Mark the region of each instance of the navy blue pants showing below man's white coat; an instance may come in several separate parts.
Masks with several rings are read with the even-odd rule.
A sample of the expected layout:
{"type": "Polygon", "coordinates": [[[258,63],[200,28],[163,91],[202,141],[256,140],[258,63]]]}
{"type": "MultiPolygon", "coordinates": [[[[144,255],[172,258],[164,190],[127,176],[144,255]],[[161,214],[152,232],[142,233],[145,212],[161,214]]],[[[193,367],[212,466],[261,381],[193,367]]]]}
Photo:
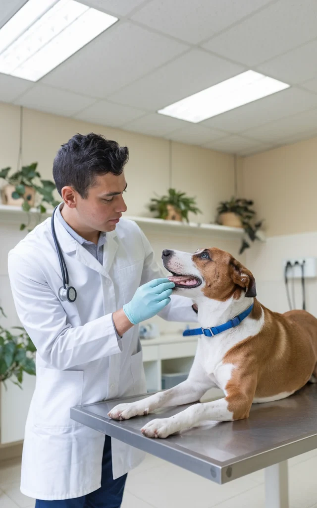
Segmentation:
{"type": "Polygon", "coordinates": [[[45,501],[37,499],[35,508],[120,508],[127,474],[114,480],[112,477],[111,437],[105,436],[101,487],[85,496],[73,499],[45,501]]]}

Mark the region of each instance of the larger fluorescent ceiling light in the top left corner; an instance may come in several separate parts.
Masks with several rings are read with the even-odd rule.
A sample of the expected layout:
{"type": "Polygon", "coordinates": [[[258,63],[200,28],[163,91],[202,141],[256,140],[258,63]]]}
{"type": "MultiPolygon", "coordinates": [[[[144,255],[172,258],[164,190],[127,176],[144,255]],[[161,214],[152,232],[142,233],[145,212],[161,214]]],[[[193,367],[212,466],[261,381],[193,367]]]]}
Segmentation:
{"type": "Polygon", "coordinates": [[[0,29],[0,72],[38,81],[116,21],[75,0],[28,0],[0,29]]]}

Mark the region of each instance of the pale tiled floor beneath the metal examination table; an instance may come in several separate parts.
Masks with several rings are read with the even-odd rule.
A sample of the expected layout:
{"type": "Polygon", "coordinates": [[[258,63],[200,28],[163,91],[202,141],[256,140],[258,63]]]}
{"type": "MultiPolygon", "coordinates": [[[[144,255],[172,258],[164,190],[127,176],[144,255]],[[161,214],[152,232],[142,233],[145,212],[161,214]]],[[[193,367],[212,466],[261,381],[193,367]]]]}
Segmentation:
{"type": "MultiPolygon", "coordinates": [[[[290,507],[317,508],[317,450],[289,461],[290,507]]],[[[0,507],[33,508],[19,489],[21,467],[0,468],[0,507]]],[[[128,476],[122,508],[264,508],[264,473],[217,485],[148,455],[128,476]]]]}

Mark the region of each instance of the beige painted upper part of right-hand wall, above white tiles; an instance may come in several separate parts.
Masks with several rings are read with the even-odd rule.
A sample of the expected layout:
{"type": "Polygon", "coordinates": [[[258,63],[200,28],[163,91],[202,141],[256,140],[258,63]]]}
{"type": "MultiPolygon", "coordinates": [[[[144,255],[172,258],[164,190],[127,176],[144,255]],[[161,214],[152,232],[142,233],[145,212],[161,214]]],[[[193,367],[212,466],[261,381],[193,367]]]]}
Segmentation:
{"type": "Polygon", "coordinates": [[[244,195],[268,236],[317,231],[317,138],[245,157],[244,195]]]}

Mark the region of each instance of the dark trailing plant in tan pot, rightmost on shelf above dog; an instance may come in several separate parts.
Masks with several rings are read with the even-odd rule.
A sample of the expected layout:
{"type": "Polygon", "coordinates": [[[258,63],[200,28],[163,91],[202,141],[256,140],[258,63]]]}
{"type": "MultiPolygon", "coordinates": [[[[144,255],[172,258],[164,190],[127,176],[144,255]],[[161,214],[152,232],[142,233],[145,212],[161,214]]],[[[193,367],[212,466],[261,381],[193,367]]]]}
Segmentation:
{"type": "MultiPolygon", "coordinates": [[[[257,237],[257,232],[263,224],[263,220],[256,223],[254,218],[256,212],[250,208],[253,206],[253,201],[240,198],[231,198],[230,201],[222,201],[218,208],[218,223],[223,226],[231,226],[234,228],[243,228],[246,235],[254,242],[257,237]]],[[[250,247],[250,243],[245,238],[242,239],[240,254],[250,247]]]]}

